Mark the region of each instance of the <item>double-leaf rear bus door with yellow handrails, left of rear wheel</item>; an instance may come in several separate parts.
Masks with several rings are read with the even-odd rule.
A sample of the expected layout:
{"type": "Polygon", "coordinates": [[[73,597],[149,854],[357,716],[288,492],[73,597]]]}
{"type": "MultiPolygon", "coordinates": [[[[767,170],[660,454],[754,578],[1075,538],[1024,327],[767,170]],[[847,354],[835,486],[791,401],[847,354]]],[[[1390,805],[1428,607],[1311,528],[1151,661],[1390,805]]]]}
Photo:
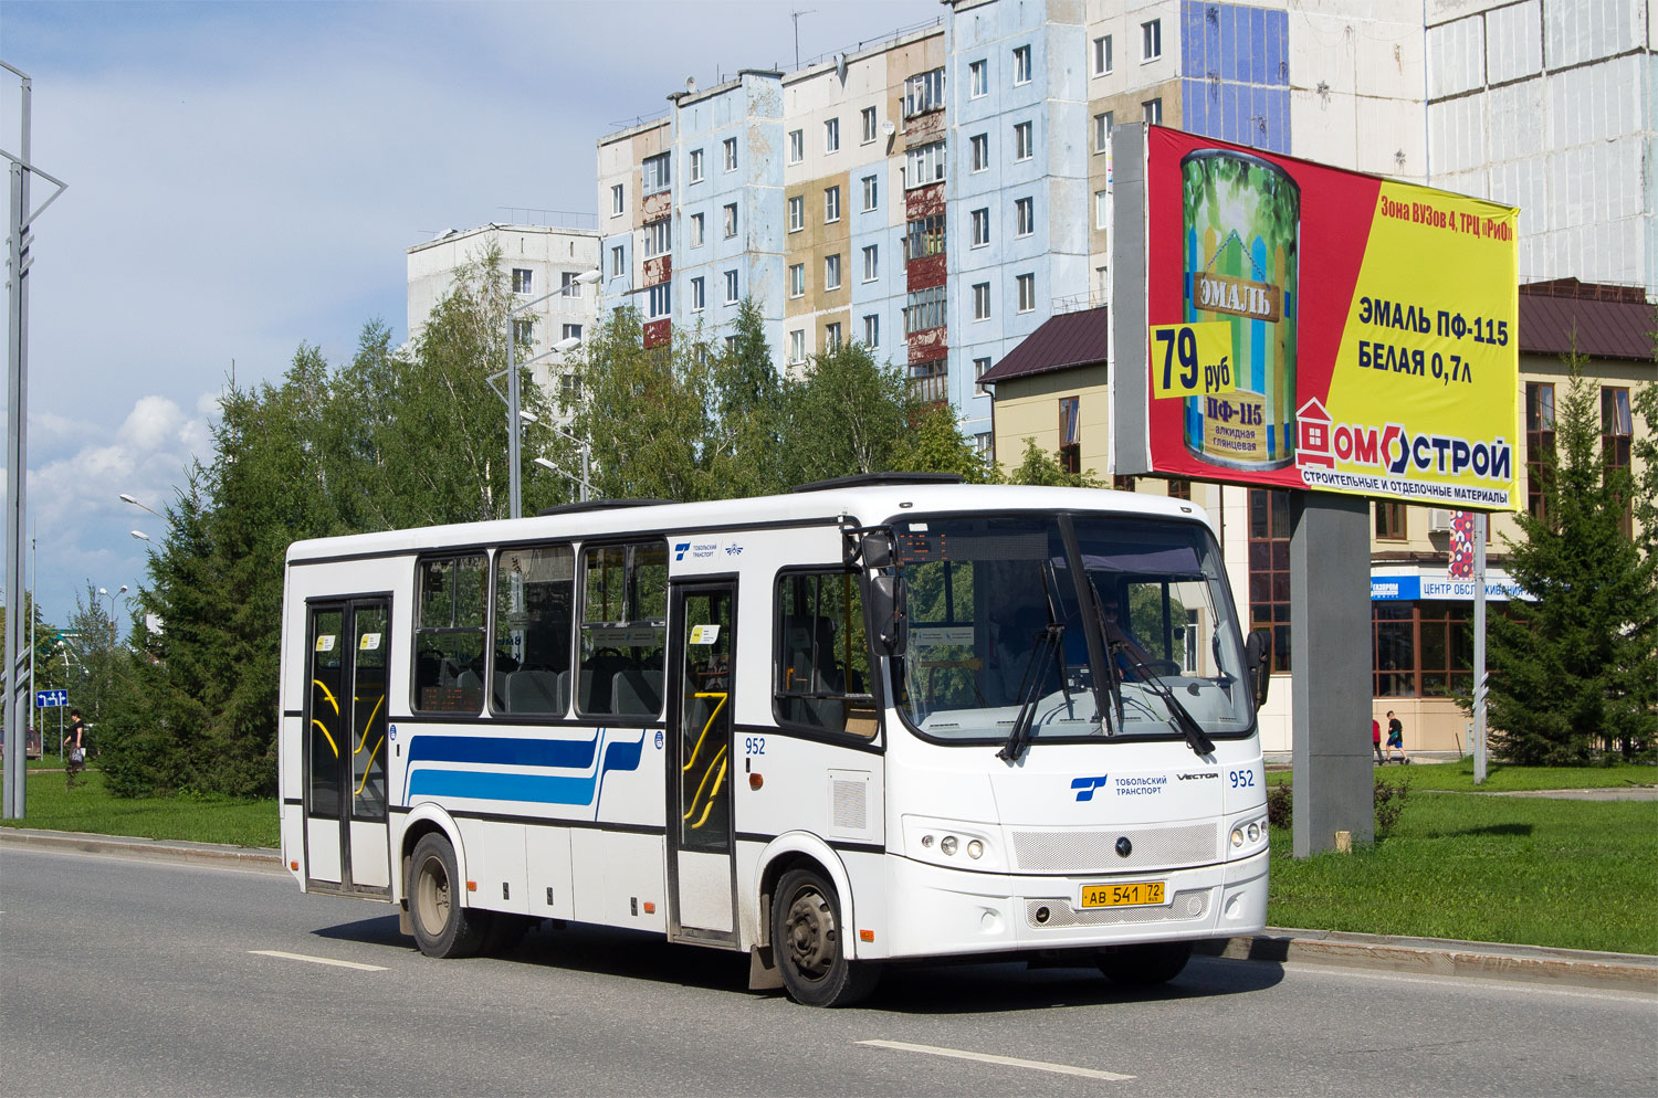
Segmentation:
{"type": "Polygon", "coordinates": [[[391,894],[386,840],[390,601],[310,606],[305,888],[391,894]]]}

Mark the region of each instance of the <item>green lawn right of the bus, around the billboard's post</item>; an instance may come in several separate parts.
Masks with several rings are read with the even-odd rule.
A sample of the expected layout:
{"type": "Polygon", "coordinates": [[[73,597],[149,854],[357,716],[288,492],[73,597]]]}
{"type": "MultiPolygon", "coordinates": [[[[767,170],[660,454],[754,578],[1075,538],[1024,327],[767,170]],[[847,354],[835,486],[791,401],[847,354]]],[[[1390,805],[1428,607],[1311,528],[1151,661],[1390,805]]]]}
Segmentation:
{"type": "Polygon", "coordinates": [[[1351,855],[1298,861],[1290,833],[1273,828],[1267,922],[1658,954],[1658,802],[1416,792],[1423,787],[1391,833],[1351,855]]]}

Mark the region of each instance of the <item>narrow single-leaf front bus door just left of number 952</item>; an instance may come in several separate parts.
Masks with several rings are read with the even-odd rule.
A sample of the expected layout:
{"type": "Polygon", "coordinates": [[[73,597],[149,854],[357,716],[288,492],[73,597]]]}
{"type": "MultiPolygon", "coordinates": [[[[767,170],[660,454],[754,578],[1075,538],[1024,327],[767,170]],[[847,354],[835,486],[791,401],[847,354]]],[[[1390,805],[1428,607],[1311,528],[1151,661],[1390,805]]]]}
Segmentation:
{"type": "Polygon", "coordinates": [[[668,934],[736,942],[731,836],[731,669],[736,585],[675,585],[670,621],[668,934]]]}

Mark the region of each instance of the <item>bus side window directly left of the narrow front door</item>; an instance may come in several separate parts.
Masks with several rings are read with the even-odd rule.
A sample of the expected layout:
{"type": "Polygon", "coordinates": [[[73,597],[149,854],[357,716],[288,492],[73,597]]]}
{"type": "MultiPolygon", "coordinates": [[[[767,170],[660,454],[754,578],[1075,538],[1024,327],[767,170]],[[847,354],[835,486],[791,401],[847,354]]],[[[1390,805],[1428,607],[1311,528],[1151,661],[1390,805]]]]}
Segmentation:
{"type": "Polygon", "coordinates": [[[575,709],[660,717],[667,624],[667,542],[584,547],[575,709]]]}

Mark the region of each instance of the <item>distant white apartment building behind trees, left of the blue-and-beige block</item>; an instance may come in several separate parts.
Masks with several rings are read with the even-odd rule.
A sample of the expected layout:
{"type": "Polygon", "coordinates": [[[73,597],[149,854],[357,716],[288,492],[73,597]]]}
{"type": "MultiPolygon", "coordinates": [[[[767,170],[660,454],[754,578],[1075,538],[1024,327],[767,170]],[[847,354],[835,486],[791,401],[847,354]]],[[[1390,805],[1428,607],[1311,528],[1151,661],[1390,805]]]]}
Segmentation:
{"type": "Polygon", "coordinates": [[[501,277],[527,308],[516,318],[521,340],[531,343],[531,376],[557,401],[559,388],[575,384],[554,344],[580,340],[599,320],[599,296],[580,275],[599,265],[599,234],[585,227],[479,225],[451,229],[436,240],[406,248],[408,333],[419,335],[433,306],[454,287],[456,270],[501,252],[501,277]],[[550,295],[550,296],[549,296],[550,295]],[[537,298],[545,298],[537,301],[537,298]],[[569,378],[569,379],[567,379],[569,378]]]}

